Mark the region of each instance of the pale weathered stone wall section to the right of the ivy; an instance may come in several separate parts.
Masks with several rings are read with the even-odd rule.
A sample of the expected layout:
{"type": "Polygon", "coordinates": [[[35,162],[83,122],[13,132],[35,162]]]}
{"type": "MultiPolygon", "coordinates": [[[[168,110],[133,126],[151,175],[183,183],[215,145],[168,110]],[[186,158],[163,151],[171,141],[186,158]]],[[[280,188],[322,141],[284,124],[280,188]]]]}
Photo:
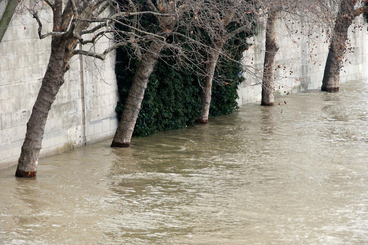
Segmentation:
{"type": "MultiPolygon", "coordinates": [[[[276,86],[275,94],[283,94],[284,91],[296,93],[305,89],[320,89],[328,55],[328,43],[325,42],[325,33],[318,30],[315,33],[311,33],[311,39],[308,39],[307,35],[300,33],[302,24],[297,25],[297,21],[292,20],[290,22],[286,20],[286,22],[289,30],[291,30],[290,23],[296,22],[293,25],[293,30],[298,30],[298,34],[293,32],[290,36],[284,25],[285,21],[280,19],[277,21],[276,32],[280,49],[275,57],[275,68],[277,68],[277,65],[283,65],[283,68],[277,68],[275,74],[279,78],[277,79],[277,84],[280,84],[283,88],[281,87],[280,91],[277,91],[278,87],[276,86]],[[286,66],[285,71],[283,70],[284,66],[286,66]],[[293,73],[290,75],[289,71],[293,71],[293,73]]],[[[348,61],[344,62],[343,71],[340,72],[341,83],[349,80],[364,79],[368,76],[367,23],[362,15],[356,18],[354,22],[357,26],[363,24],[363,27],[362,30],[360,30],[361,28],[354,29],[353,26],[355,25],[349,28],[348,42],[350,42],[351,47],[354,47],[352,49],[354,53],[347,53],[348,61]]],[[[244,55],[248,58],[244,60],[244,63],[256,68],[262,68],[265,57],[266,34],[261,28],[258,28],[258,33],[257,36],[250,39],[250,42],[255,47],[245,51],[244,55]]],[[[304,33],[307,33],[307,30],[304,30],[304,33]]],[[[260,101],[262,81],[254,79],[247,73],[244,73],[243,76],[246,80],[239,86],[238,95],[240,98],[238,99],[238,104],[260,101]]]]}

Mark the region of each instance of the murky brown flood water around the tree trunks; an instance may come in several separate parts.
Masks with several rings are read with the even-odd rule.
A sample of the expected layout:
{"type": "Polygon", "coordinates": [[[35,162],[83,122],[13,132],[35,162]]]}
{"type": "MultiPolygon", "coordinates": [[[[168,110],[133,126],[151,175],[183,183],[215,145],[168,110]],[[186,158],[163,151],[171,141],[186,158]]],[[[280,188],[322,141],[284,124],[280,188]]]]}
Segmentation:
{"type": "Polygon", "coordinates": [[[1,170],[0,244],[368,244],[368,83],[284,97],[1,170]]]}

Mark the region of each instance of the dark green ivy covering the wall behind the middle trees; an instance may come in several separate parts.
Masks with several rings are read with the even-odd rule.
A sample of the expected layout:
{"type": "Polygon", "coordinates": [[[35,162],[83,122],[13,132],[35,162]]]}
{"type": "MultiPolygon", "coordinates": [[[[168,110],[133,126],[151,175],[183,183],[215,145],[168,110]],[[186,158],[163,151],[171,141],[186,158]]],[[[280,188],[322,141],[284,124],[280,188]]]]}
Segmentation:
{"type": "MultiPolygon", "coordinates": [[[[231,45],[227,47],[229,46],[231,45]]],[[[235,60],[240,61],[245,48],[246,46],[242,44],[227,52],[235,60]]],[[[163,51],[166,55],[170,54],[169,52],[168,50],[163,51]]],[[[116,61],[115,73],[120,96],[116,111],[120,118],[138,60],[130,48],[122,47],[117,50],[116,61]]],[[[156,64],[149,78],[133,136],[144,137],[157,131],[193,125],[201,114],[199,97],[201,78],[185,69],[173,68],[174,64],[176,61],[170,58],[165,58],[164,61],[159,60],[156,64]]],[[[244,79],[238,77],[240,73],[239,64],[220,59],[215,71],[215,78],[220,79],[218,83],[213,83],[210,116],[230,114],[238,108],[237,88],[244,79]]]]}

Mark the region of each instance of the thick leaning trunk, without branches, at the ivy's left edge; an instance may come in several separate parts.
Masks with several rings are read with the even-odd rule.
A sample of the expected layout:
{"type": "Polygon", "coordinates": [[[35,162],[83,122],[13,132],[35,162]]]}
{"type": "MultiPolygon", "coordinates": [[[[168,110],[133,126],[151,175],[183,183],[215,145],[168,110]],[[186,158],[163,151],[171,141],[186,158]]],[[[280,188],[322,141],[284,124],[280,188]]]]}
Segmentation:
{"type": "Polygon", "coordinates": [[[148,79],[159,58],[164,42],[153,41],[139,62],[132,80],[127,102],[125,102],[123,116],[116,129],[111,147],[129,147],[130,140],[137,122],[139,111],[147,88],[148,79]]]}

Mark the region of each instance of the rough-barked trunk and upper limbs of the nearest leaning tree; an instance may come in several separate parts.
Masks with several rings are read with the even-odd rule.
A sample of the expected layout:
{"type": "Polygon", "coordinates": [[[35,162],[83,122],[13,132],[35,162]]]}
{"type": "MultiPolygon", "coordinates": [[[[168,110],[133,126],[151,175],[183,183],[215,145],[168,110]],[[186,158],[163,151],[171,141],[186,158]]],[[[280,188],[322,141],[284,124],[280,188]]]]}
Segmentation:
{"type": "MultiPolygon", "coordinates": [[[[49,2],[50,3],[50,2],[49,2]]],[[[73,50],[77,44],[77,39],[69,32],[63,35],[70,23],[72,13],[72,3],[68,2],[62,12],[63,1],[57,0],[52,4],[53,7],[53,33],[51,40],[51,53],[46,73],[42,79],[41,87],[33,105],[31,117],[27,122],[27,130],[25,139],[21,148],[21,155],[18,159],[18,166],[15,172],[17,177],[34,177],[36,176],[39,154],[41,150],[43,133],[47,116],[51,109],[51,105],[55,100],[56,94],[61,85],[64,83],[64,75],[69,69],[69,60],[73,55],[73,50]]],[[[39,37],[42,36],[42,24],[37,16],[33,13],[33,18],[39,24],[39,37]]],[[[79,27],[86,27],[88,24],[83,23],[79,27]]],[[[71,28],[75,29],[74,27],[71,28]]]]}

